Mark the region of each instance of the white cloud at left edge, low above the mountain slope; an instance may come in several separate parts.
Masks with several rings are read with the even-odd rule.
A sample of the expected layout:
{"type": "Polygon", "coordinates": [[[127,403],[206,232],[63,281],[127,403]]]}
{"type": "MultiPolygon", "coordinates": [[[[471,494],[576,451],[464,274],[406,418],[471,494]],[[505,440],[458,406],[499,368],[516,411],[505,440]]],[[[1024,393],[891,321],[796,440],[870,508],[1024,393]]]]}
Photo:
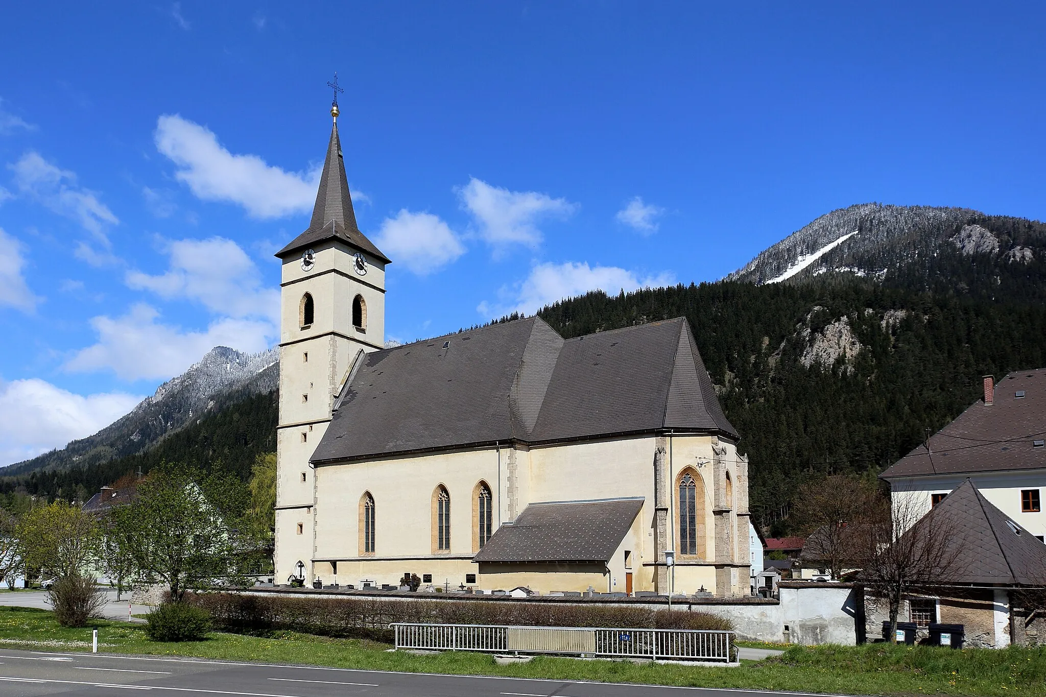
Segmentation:
{"type": "Polygon", "coordinates": [[[83,396],[38,378],[0,382],[0,464],[28,460],[90,436],[142,397],[122,392],[83,396]]]}

